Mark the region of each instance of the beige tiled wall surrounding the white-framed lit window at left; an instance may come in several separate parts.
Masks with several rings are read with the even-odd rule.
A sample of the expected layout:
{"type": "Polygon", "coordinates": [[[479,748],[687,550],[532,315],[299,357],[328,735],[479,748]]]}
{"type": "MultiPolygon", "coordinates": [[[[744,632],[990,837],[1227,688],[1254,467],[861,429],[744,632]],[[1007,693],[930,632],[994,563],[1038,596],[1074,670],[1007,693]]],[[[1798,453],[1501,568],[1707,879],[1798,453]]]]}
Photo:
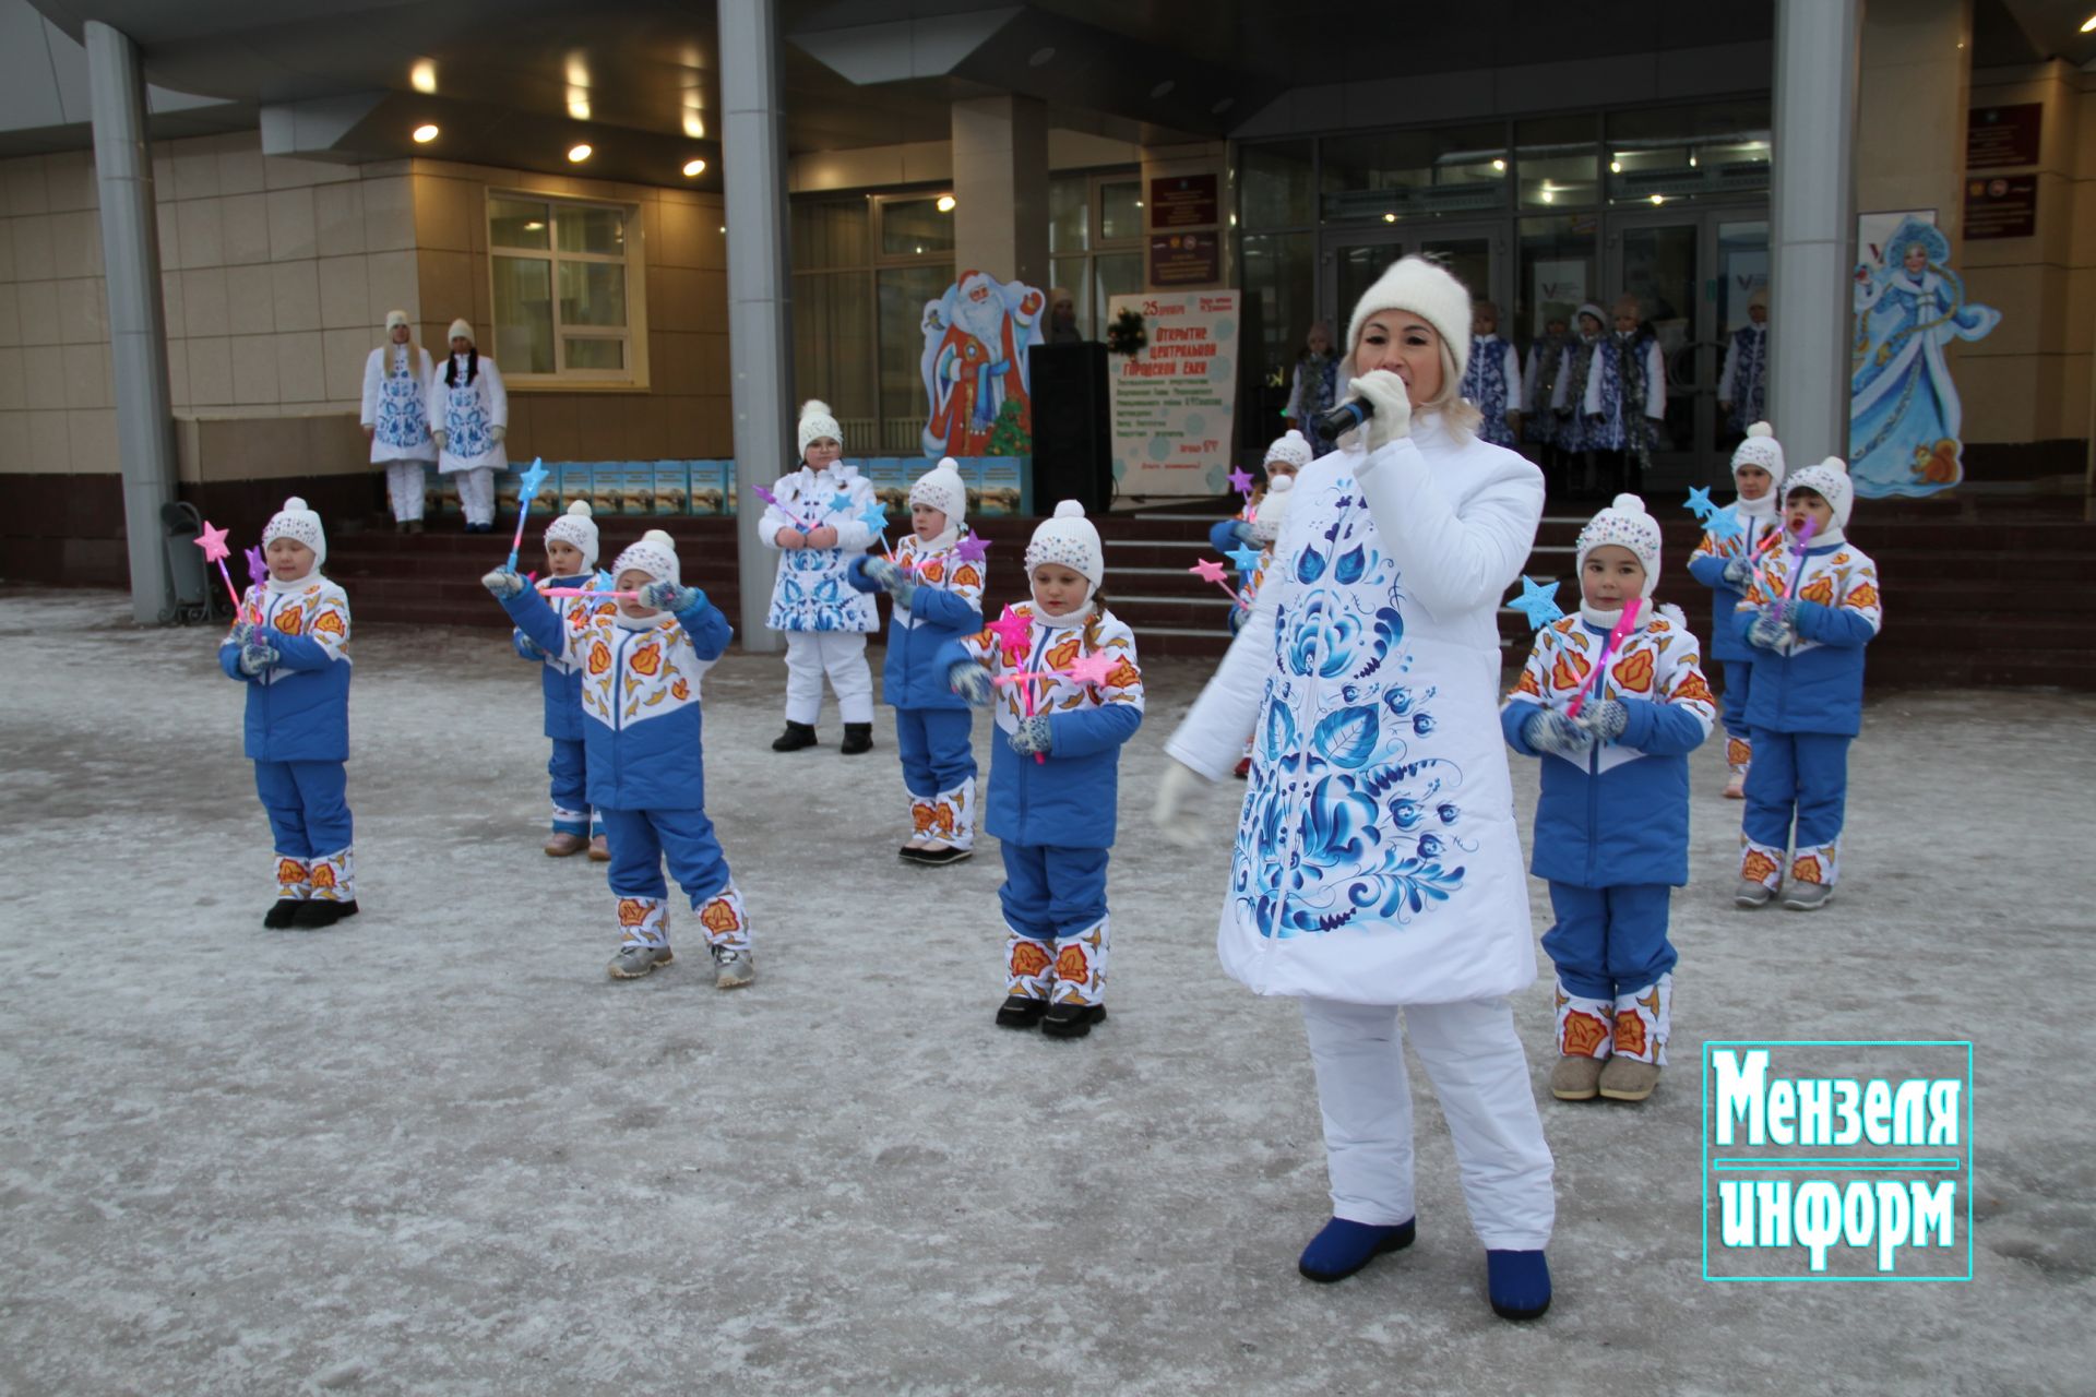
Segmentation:
{"type": "Polygon", "coordinates": [[[648,390],[509,392],[509,457],[658,461],[734,454],[727,239],[719,195],[451,161],[413,161],[421,335],[442,354],[453,316],[488,343],[488,189],[631,203],[641,214],[648,390]]]}

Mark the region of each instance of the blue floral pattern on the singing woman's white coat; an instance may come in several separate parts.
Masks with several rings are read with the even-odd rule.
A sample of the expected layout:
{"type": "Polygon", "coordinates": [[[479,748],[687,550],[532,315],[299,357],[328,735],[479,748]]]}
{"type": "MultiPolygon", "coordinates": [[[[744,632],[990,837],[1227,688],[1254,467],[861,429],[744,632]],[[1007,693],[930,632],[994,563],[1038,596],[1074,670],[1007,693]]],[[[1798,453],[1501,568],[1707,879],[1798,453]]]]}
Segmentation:
{"type": "Polygon", "coordinates": [[[1398,930],[1463,892],[1463,769],[1434,752],[1436,691],[1402,683],[1398,566],[1352,478],[1306,515],[1331,524],[1276,568],[1287,597],[1230,888],[1262,936],[1398,930]]]}

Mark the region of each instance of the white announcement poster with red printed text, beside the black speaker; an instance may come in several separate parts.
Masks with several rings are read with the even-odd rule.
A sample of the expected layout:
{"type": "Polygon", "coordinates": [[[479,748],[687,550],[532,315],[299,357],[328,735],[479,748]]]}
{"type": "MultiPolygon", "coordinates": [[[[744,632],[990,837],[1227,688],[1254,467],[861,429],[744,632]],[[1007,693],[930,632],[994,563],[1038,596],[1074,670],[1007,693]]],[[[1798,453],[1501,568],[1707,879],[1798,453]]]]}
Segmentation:
{"type": "Polygon", "coordinates": [[[1115,295],[1109,323],[1142,316],[1136,354],[1113,356],[1113,478],[1121,494],[1222,494],[1237,411],[1239,293],[1115,295]]]}

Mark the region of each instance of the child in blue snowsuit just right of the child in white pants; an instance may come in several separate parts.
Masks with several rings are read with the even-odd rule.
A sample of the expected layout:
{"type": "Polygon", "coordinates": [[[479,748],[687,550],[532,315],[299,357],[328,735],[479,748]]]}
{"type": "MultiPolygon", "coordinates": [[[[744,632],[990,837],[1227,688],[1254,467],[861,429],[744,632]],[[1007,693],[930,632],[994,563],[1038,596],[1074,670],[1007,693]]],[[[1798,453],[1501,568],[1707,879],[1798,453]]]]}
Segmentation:
{"type": "Polygon", "coordinates": [[[960,551],[968,488],[952,457],[910,486],[912,532],[895,561],[861,553],[849,580],[893,597],[882,697],[895,708],[895,746],[910,794],[912,863],[960,863],[975,852],[975,714],[947,685],[939,651],[983,628],[983,557],[960,551]]]}

